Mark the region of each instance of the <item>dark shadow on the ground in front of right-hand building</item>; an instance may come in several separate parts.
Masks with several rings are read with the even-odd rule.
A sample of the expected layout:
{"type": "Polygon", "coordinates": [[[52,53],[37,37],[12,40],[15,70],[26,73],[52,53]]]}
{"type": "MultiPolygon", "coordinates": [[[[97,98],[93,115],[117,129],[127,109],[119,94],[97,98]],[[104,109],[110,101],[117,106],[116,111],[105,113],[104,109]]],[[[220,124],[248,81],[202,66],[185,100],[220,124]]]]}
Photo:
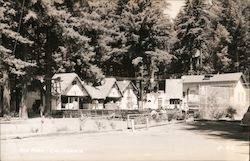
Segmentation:
{"type": "Polygon", "coordinates": [[[241,127],[239,121],[194,121],[187,123],[186,130],[197,131],[209,136],[240,141],[249,141],[249,129],[241,127]]]}

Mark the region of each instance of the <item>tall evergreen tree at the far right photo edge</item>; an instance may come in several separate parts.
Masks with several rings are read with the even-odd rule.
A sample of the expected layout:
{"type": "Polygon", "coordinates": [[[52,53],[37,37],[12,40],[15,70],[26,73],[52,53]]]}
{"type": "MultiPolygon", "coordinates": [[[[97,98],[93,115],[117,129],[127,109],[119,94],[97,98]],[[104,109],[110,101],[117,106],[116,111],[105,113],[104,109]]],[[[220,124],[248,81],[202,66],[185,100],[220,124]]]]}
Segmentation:
{"type": "Polygon", "coordinates": [[[229,58],[232,60],[229,70],[231,72],[244,72],[249,77],[250,2],[248,0],[222,0],[221,6],[220,23],[229,32],[231,40],[227,44],[229,58]]]}

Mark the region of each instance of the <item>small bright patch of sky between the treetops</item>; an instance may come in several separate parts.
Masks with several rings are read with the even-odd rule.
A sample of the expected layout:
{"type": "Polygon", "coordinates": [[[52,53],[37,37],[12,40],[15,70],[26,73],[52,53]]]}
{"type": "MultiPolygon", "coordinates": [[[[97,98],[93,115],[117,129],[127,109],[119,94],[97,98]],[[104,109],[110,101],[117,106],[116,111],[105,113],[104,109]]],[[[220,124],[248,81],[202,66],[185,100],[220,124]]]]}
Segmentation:
{"type": "Polygon", "coordinates": [[[165,10],[170,18],[174,19],[179,13],[181,7],[184,5],[185,0],[166,0],[170,6],[165,10]]]}

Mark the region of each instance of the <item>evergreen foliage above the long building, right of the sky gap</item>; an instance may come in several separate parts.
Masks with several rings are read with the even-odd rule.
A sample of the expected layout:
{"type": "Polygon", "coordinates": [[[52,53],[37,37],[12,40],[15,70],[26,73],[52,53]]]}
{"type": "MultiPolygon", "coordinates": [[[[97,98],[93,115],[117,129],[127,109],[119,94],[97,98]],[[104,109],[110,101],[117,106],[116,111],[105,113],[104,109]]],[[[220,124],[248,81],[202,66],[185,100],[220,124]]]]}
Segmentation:
{"type": "Polygon", "coordinates": [[[186,0],[174,24],[171,73],[249,75],[249,1],[186,0]]]}

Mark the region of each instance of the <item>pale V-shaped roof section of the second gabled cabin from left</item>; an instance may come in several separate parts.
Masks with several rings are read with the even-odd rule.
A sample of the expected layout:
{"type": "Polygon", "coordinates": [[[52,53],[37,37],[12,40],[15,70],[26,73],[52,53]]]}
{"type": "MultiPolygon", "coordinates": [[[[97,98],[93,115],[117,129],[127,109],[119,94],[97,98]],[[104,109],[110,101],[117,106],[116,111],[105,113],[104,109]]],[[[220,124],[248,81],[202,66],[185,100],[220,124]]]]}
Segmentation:
{"type": "Polygon", "coordinates": [[[106,99],[114,85],[117,85],[115,78],[105,78],[102,85],[95,87],[83,84],[92,99],[106,99]]]}

